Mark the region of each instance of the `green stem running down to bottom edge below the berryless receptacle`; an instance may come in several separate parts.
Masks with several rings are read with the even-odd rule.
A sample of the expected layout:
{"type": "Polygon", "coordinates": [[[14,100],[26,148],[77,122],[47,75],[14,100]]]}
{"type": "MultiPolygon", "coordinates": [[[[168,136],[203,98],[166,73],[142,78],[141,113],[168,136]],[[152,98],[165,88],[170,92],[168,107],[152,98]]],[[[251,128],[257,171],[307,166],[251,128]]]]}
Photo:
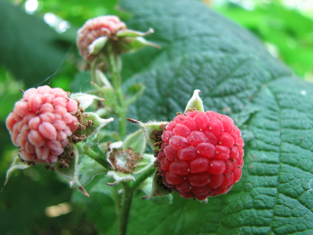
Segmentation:
{"type": "Polygon", "coordinates": [[[131,202],[133,200],[134,189],[124,185],[124,194],[121,203],[121,210],[119,214],[119,230],[118,235],[125,235],[127,230],[127,223],[129,212],[131,208],[131,202]]]}

